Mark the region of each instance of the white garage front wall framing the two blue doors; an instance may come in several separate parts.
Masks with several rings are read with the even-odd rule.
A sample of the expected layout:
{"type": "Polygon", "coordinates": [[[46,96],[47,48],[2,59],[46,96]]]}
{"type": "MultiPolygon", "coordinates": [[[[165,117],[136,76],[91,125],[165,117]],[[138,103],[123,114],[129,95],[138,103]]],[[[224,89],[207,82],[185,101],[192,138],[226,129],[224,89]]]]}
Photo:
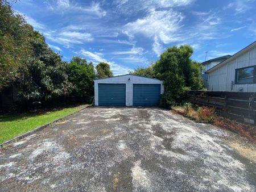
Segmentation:
{"type": "Polygon", "coordinates": [[[96,106],[98,106],[98,84],[126,84],[126,106],[133,106],[133,84],[161,84],[160,93],[164,93],[163,82],[154,78],[139,77],[130,74],[103,78],[101,80],[94,80],[94,103],[96,106]]]}

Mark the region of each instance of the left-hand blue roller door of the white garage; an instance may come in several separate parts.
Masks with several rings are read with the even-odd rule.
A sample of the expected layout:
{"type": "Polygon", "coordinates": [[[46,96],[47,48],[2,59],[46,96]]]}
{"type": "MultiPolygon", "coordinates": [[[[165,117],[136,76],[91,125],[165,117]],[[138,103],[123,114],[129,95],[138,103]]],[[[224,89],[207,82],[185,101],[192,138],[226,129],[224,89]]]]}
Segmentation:
{"type": "Polygon", "coordinates": [[[98,105],[125,106],[125,84],[98,84],[98,105]]]}

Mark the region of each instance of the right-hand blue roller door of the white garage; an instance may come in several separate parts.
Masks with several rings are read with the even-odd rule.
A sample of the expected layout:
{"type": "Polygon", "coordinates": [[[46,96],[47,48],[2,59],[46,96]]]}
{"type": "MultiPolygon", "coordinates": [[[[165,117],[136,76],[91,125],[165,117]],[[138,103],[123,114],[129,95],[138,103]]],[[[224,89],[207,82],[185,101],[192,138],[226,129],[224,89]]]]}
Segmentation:
{"type": "Polygon", "coordinates": [[[160,84],[133,84],[133,105],[158,106],[160,87],[160,84]]]}

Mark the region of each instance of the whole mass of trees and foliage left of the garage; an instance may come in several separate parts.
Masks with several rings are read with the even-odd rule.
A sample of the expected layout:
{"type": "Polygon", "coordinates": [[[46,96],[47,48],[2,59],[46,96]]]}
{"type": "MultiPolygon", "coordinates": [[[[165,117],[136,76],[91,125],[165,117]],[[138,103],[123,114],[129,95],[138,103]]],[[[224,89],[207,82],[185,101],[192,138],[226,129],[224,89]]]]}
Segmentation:
{"type": "Polygon", "coordinates": [[[63,61],[9,2],[0,0],[0,92],[18,87],[20,104],[28,108],[63,97],[88,101],[93,96],[93,79],[113,76],[107,63],[96,69],[97,73],[92,62],[78,56],[70,63],[63,61]]]}

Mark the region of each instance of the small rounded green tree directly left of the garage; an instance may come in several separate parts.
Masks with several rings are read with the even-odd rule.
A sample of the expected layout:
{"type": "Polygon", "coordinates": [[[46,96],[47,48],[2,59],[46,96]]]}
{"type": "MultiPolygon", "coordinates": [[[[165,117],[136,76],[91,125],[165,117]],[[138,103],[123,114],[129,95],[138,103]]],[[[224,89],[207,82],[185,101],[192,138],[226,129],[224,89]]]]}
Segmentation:
{"type": "Polygon", "coordinates": [[[86,99],[91,97],[93,95],[94,78],[96,78],[96,74],[91,63],[87,64],[85,59],[77,56],[72,58],[68,65],[68,80],[74,85],[71,95],[86,99]]]}

